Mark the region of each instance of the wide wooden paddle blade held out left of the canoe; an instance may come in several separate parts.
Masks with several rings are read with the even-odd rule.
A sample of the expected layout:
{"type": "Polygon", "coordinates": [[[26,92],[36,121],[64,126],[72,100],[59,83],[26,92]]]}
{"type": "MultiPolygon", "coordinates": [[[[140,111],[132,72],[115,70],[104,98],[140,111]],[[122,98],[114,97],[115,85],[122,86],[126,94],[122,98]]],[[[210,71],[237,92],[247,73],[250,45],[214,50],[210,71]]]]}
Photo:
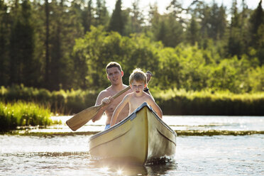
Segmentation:
{"type": "Polygon", "coordinates": [[[67,126],[69,126],[72,131],[77,131],[77,129],[81,128],[85,125],[89,120],[93,119],[95,115],[97,115],[100,106],[92,106],[87,109],[84,109],[83,111],[79,112],[75,116],[73,116],[71,119],[66,121],[67,126]]]}

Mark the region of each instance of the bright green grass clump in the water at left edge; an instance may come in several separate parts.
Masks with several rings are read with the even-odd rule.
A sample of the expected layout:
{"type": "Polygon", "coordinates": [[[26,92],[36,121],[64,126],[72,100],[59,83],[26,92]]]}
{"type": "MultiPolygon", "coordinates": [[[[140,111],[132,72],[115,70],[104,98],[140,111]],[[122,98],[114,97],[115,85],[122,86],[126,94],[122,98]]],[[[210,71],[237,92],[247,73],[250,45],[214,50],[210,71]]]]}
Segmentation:
{"type": "Polygon", "coordinates": [[[6,131],[17,126],[48,126],[50,109],[34,103],[18,101],[7,103],[0,101],[0,131],[6,131]]]}

